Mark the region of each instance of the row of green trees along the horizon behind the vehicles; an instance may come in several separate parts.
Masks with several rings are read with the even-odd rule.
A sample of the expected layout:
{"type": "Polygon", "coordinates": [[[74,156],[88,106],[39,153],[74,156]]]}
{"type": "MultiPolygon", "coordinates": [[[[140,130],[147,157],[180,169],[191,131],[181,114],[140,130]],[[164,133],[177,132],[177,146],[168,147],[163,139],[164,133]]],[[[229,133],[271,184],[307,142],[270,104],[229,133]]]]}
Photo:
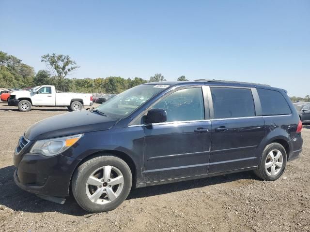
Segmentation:
{"type": "MultiPolygon", "coordinates": [[[[0,87],[25,88],[40,85],[53,85],[60,91],[90,93],[120,93],[124,90],[147,82],[166,81],[165,77],[156,73],[149,80],[135,77],[124,79],[120,76],[107,78],[67,78],[78,70],[79,66],[68,55],[47,54],[41,57],[47,70],[34,72],[34,68],[23,63],[21,59],[0,51],[0,87]]],[[[186,80],[180,76],[178,80],[186,80]]]]}

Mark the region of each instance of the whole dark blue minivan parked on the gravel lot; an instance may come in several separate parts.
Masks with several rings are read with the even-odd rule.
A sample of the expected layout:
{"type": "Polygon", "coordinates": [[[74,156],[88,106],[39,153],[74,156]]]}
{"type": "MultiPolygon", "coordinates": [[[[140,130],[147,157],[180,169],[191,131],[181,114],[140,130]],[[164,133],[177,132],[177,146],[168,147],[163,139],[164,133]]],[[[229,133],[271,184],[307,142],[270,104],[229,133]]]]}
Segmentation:
{"type": "Polygon", "coordinates": [[[32,125],[16,147],[14,179],[47,200],[63,203],[72,189],[83,209],[109,211],[131,188],[248,170],[276,180],[301,152],[301,129],[283,89],[147,83],[32,125]]]}

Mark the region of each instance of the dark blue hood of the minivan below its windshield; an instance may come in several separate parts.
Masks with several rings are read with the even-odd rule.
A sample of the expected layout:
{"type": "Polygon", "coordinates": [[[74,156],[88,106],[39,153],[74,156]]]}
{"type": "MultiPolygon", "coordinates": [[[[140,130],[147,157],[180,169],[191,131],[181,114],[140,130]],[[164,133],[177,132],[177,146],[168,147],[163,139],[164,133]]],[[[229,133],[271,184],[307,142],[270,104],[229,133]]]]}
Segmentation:
{"type": "Polygon", "coordinates": [[[63,115],[49,117],[33,124],[25,132],[29,140],[50,139],[85,133],[109,130],[118,119],[102,116],[87,110],[74,111],[63,115]]]}

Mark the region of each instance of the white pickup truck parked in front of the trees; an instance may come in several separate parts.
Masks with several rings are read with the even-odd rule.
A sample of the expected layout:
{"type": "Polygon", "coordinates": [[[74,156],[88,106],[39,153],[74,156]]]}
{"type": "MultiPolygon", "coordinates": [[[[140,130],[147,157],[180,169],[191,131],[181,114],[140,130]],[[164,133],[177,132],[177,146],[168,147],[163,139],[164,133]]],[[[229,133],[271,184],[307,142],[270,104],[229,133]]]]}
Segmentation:
{"type": "Polygon", "coordinates": [[[57,93],[54,86],[37,86],[30,90],[14,91],[8,105],[18,106],[19,111],[30,111],[31,106],[67,106],[70,111],[93,105],[90,93],[57,93]]]}

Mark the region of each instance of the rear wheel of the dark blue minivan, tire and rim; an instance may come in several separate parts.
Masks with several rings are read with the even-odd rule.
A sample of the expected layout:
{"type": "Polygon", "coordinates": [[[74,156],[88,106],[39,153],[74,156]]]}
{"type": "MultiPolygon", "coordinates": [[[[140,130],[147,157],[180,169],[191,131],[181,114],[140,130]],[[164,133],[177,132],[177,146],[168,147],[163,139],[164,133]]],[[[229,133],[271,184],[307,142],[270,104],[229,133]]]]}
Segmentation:
{"type": "Polygon", "coordinates": [[[263,150],[258,169],[254,170],[254,173],[266,181],[277,180],[284,173],[286,162],[285,148],[279,143],[269,144],[263,150]]]}

